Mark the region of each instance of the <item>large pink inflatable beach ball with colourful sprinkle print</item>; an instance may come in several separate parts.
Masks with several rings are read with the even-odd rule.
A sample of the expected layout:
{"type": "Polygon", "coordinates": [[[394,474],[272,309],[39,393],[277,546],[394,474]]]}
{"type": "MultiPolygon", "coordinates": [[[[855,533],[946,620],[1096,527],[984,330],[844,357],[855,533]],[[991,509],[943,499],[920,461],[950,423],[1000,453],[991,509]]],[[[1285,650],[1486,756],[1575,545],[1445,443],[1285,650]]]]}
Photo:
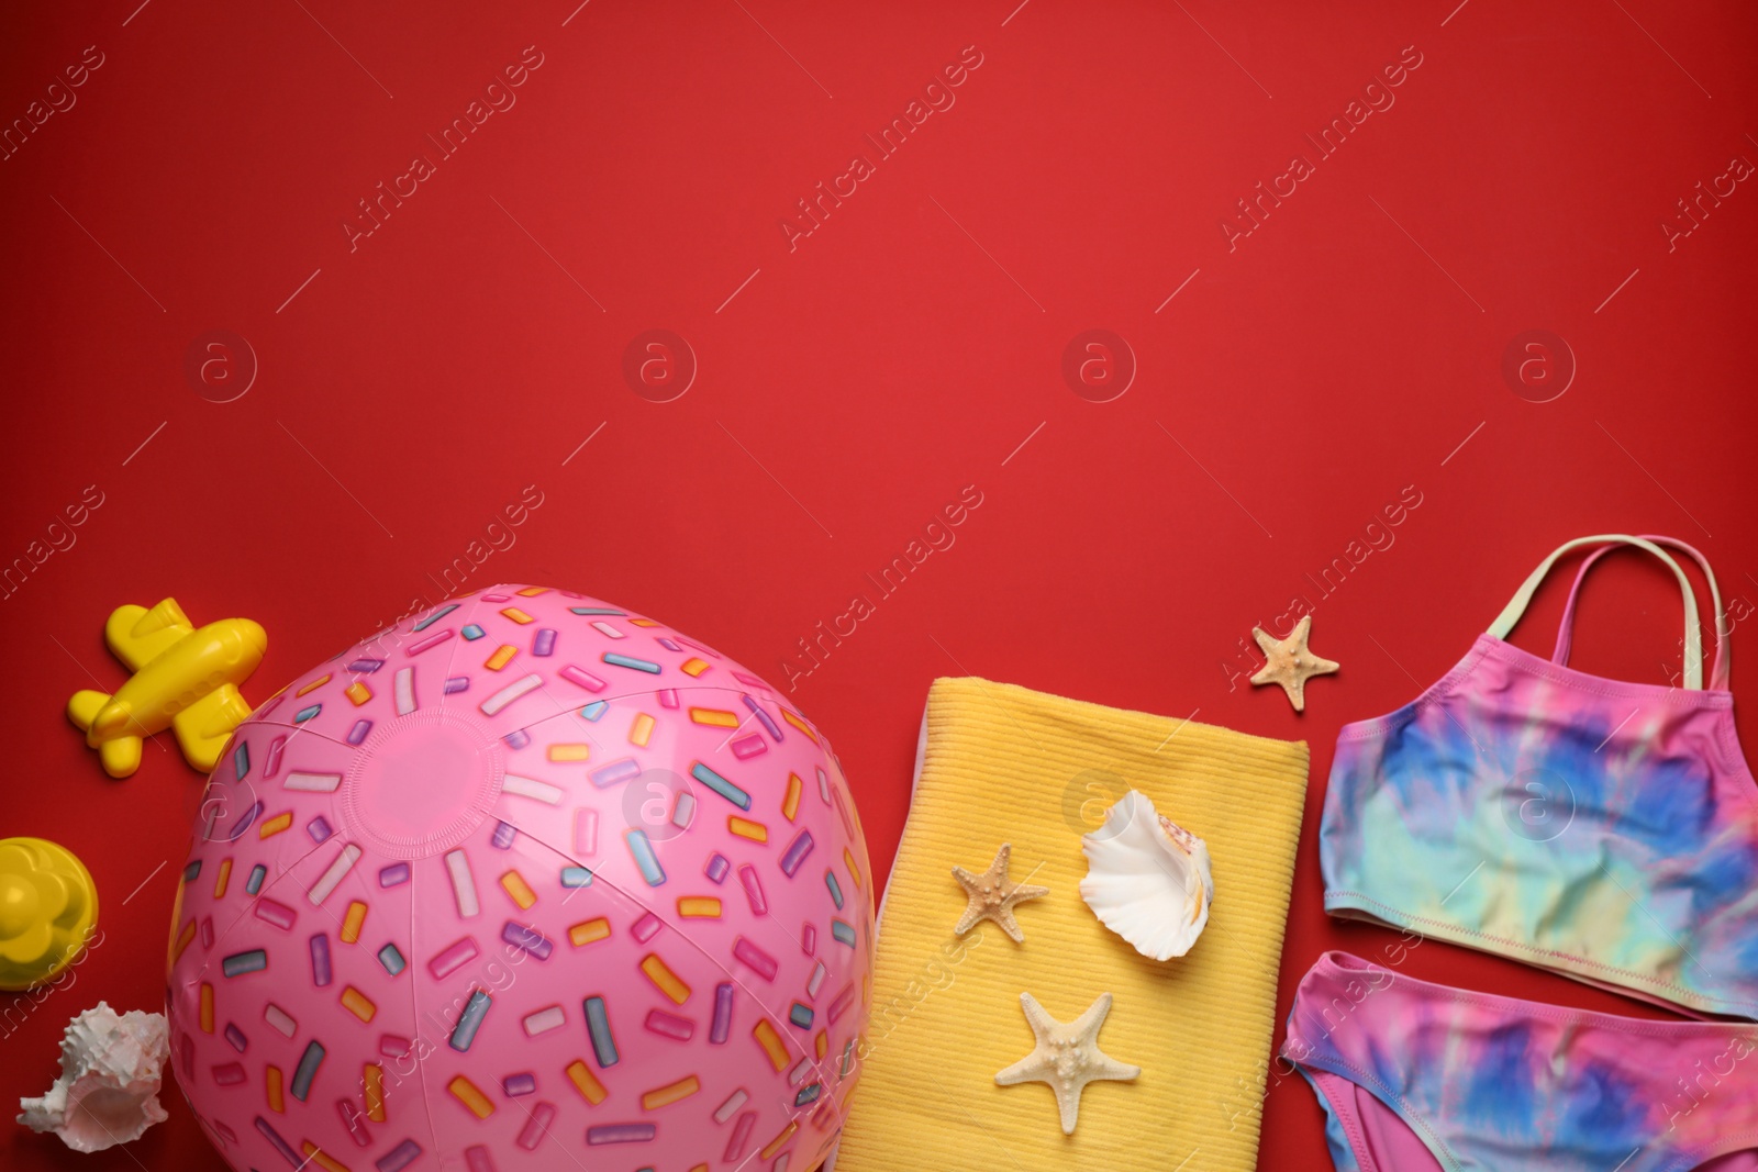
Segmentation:
{"type": "Polygon", "coordinates": [[[854,803],[789,699],[501,585],[237,727],[171,924],[172,1068],[241,1170],[810,1172],[870,958],[854,803]]]}

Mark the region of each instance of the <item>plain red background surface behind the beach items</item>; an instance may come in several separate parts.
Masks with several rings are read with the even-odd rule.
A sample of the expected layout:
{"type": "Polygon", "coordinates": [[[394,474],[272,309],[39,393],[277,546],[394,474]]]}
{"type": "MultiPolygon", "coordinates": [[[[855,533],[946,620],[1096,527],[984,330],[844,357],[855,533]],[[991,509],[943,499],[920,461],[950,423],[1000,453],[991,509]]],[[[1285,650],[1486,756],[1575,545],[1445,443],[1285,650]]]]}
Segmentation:
{"type": "MultiPolygon", "coordinates": [[[[167,736],[107,780],[62,715],[72,691],[125,678],[100,638],[116,604],[176,596],[197,622],[262,622],[269,655],[244,687],[260,701],[443,597],[438,573],[466,557],[469,587],[598,594],[786,685],[788,655],[810,666],[798,640],[875,594],[863,575],[965,485],[983,503],[955,545],[795,682],[881,872],[928,682],[976,673],[1310,740],[1283,1010],[1320,951],[1392,942],[1322,912],[1338,724],[1440,676],[1572,536],[1672,532],[1730,597],[1758,597],[1739,341],[1758,192],[1705,200],[1672,248],[1661,227],[1730,158],[1758,162],[1758,16],[1454,2],[9,9],[7,123],[86,46],[102,65],[0,162],[0,559],[30,568],[0,611],[0,835],[86,859],[105,944],[72,989],[14,1002],[0,1100],[47,1086],[74,1012],[162,996],[200,778],[167,736]],[[350,251],[357,200],[438,155],[424,135],[526,46],[543,63],[517,105],[350,251]],[[872,156],[863,134],[965,46],[983,63],[956,104],[789,251],[795,202],[872,156]],[[1303,134],[1406,46],[1420,67],[1396,104],[1320,162],[1303,134]],[[1315,174],[1229,250],[1222,218],[1294,153],[1315,174]],[[260,364],[232,402],[211,399],[239,388],[241,353],[209,383],[185,374],[213,329],[260,364]],[[700,365],[672,402],[622,376],[650,329],[700,365]],[[1062,378],[1086,329],[1134,351],[1115,401],[1062,378]],[[1561,353],[1528,367],[1524,395],[1501,373],[1531,329],[1577,367],[1549,402],[1529,399],[1565,381],[1561,353]],[[102,506],[32,566],[88,485],[102,506]],[[527,485],[541,504],[501,532],[515,543],[471,566],[527,485]],[[1405,487],[1420,506],[1396,543],[1318,597],[1303,575],[1405,487]],[[1222,666],[1296,592],[1317,601],[1315,650],[1343,662],[1304,717],[1222,666]]],[[[1515,641],[1549,650],[1559,585],[1515,641]]],[[[1575,664],[1663,680],[1677,624],[1668,580],[1617,559],[1587,590],[1575,664]]],[[[1660,1012],[1443,944],[1408,972],[1660,1012]]],[[[222,1167],[163,1098],[171,1121],[127,1149],[81,1160],[7,1126],[0,1161],[222,1167]]],[[[1178,1149],[1174,1121],[1144,1128],[1178,1149]]],[[[1273,1086],[1262,1167],[1322,1151],[1313,1096],[1273,1086]]]]}

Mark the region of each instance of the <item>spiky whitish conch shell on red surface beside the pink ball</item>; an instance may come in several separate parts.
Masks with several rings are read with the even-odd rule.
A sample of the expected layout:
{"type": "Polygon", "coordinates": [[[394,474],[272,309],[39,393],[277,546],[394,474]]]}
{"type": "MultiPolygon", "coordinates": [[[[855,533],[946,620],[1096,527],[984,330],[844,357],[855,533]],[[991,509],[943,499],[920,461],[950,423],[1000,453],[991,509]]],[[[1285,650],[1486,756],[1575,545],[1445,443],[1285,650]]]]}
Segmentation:
{"type": "Polygon", "coordinates": [[[21,1098],[19,1123],[54,1132],[74,1151],[104,1151],[165,1121],[158,1084],[171,1054],[165,1016],[116,1016],[104,1002],[62,1035],[62,1077],[42,1098],[21,1098]]]}

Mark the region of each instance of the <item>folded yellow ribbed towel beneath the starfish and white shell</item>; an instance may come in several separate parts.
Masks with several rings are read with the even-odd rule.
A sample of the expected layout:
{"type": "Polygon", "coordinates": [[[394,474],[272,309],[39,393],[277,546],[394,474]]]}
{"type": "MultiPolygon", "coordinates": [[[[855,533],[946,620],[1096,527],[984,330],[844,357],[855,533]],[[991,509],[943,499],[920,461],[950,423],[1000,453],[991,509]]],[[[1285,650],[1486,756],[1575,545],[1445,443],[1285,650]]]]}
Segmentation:
{"type": "Polygon", "coordinates": [[[1304,742],[935,680],[837,1172],[1250,1172],[1306,764],[1304,742]],[[1079,894],[1081,835],[1129,789],[1213,856],[1208,930],[1166,963],[1079,894]],[[965,894],[951,868],[981,873],[1004,842],[1011,879],[1050,887],[1016,910],[1025,944],[992,922],[955,937],[965,894]],[[1020,993],[1060,1021],[1115,995],[1099,1045],[1141,1067],[1134,1082],[1090,1084],[1071,1137],[1046,1084],[995,1084],[1032,1053],[1020,993]]]}

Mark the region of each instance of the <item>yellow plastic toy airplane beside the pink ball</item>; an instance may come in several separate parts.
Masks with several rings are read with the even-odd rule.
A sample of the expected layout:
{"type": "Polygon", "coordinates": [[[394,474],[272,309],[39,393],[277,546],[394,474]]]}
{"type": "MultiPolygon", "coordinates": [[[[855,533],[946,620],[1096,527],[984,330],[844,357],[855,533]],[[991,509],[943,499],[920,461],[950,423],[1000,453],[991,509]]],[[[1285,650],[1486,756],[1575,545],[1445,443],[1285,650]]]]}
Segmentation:
{"type": "Polygon", "coordinates": [[[237,691],[269,647],[250,619],[190,624],[178,599],[148,610],[118,606],[104,624],[104,641],[134,671],[114,696],[74,692],[67,719],[86,731],[104,771],[128,777],[141,768],[141,740],[171,727],[183,759],[207,773],[232,729],[250,715],[237,691]]]}

